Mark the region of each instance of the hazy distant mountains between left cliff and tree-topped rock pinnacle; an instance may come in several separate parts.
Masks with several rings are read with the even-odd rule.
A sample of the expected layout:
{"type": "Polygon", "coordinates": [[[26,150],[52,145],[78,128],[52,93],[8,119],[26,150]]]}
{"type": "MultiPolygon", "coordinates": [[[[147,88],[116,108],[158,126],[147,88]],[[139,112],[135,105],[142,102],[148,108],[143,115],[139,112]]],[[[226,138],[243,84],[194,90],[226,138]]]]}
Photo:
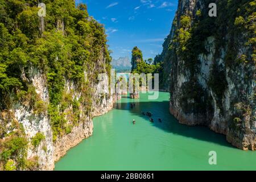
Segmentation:
{"type": "Polygon", "coordinates": [[[119,57],[118,59],[112,59],[112,68],[117,72],[130,72],[131,71],[131,60],[129,57],[119,57]]]}

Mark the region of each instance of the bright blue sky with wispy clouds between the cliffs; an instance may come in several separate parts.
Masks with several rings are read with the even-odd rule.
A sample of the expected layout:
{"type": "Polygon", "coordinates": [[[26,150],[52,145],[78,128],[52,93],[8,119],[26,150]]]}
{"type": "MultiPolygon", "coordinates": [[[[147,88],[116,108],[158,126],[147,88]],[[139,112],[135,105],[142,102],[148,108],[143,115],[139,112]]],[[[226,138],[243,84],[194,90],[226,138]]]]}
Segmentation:
{"type": "Polygon", "coordinates": [[[88,13],[104,24],[112,57],[131,57],[134,46],[142,49],[144,59],[162,52],[164,38],[170,33],[178,0],[77,0],[88,13]]]}

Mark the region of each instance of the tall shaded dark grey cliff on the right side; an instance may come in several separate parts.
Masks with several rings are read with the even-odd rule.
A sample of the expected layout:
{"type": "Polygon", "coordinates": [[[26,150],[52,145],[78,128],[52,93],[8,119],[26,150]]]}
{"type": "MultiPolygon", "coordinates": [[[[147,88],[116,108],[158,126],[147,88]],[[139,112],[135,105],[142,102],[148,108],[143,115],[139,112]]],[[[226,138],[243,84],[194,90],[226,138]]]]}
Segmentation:
{"type": "Polygon", "coordinates": [[[205,125],[243,150],[256,149],[255,1],[180,0],[160,59],[170,112],[205,125]]]}

